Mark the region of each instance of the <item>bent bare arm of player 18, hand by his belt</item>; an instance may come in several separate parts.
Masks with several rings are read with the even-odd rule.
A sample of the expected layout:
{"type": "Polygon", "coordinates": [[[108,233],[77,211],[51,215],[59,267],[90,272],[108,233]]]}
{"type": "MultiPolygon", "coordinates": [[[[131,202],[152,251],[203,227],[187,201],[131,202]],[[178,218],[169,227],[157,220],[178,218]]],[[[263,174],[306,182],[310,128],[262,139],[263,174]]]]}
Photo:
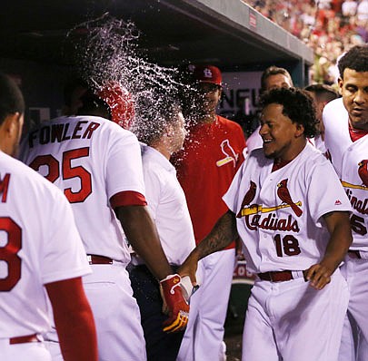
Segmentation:
{"type": "Polygon", "coordinates": [[[323,219],[330,232],[330,240],[321,262],[309,268],[306,274],[311,286],[316,289],[322,289],[331,281],[331,275],[345,258],[353,241],[348,212],[330,212],[323,219]]]}

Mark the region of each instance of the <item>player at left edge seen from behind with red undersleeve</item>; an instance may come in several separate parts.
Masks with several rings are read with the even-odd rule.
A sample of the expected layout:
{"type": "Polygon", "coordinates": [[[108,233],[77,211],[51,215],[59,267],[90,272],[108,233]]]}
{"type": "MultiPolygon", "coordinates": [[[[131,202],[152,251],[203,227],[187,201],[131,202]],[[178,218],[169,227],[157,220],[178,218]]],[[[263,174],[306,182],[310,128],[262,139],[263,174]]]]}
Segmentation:
{"type": "Polygon", "coordinates": [[[51,360],[40,336],[51,327],[46,290],[65,360],[97,360],[94,317],[81,280],[91,271],[70,205],[9,156],[24,111],[19,89],[0,74],[0,358],[51,360]]]}

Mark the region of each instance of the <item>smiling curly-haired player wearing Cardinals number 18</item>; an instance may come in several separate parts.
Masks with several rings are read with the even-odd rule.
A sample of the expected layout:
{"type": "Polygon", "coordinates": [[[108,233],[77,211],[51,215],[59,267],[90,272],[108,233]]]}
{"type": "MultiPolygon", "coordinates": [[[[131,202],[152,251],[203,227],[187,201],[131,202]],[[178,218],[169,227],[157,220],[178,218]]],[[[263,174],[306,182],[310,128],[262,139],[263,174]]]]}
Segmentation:
{"type": "Polygon", "coordinates": [[[334,361],[348,304],[338,266],[352,241],[351,206],[330,162],[306,139],[316,132],[312,98],[275,89],[261,104],[264,147],[244,161],[224,195],[230,210],[180,274],[194,280],[197,259],[224,248],[237,230],[257,275],[243,359],[334,361]]]}

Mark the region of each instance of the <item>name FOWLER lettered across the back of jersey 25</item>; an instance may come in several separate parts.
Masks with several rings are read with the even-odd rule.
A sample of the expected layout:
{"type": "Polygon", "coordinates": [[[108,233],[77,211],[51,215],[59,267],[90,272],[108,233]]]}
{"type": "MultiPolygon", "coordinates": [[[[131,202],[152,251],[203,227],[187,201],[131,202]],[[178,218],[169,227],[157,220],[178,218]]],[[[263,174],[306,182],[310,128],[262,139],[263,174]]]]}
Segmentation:
{"type": "Polygon", "coordinates": [[[79,121],[47,124],[28,136],[28,146],[33,148],[35,141],[40,144],[69,141],[71,139],[90,139],[100,126],[99,122],[79,121]]]}

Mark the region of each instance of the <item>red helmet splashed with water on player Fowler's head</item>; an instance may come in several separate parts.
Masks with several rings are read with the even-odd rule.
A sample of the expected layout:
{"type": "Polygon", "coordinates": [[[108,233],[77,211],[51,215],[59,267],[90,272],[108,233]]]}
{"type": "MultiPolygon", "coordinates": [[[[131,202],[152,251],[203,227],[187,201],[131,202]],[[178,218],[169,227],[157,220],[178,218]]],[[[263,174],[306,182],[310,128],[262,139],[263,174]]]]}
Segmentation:
{"type": "Polygon", "coordinates": [[[97,92],[99,98],[104,100],[110,108],[112,121],[124,129],[129,129],[134,120],[134,100],[120,83],[111,81],[105,83],[97,92]]]}

